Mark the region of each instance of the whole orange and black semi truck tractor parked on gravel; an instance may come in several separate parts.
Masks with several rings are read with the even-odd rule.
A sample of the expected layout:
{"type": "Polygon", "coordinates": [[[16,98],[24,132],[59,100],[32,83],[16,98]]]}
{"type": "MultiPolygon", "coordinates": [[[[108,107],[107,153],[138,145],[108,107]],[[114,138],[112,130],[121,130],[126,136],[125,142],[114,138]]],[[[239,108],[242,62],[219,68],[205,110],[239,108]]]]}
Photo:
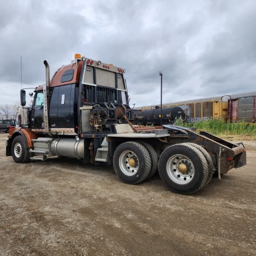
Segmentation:
{"type": "Polygon", "coordinates": [[[20,91],[21,125],[11,129],[6,156],[17,163],[75,158],[85,164],[107,163],[118,178],[138,184],[159,172],[172,191],[192,194],[246,164],[242,143],[174,125],[133,125],[125,69],[75,54],[34,92],[26,107],[20,91]]]}

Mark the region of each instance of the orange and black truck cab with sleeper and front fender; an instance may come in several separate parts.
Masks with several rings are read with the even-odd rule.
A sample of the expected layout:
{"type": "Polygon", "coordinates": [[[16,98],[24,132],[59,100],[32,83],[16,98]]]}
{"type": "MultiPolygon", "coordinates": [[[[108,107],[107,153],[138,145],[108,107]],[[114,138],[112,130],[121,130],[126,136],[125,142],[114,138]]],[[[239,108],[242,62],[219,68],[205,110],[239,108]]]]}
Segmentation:
{"type": "MultiPolygon", "coordinates": [[[[101,124],[101,134],[97,136],[104,138],[109,133],[108,123],[120,123],[116,116],[111,117],[110,108],[124,106],[128,109],[128,94],[123,73],[125,69],[103,64],[101,61],[75,56],[71,64],[63,65],[53,75],[49,83],[49,105],[48,118],[51,136],[85,138],[94,135],[95,129],[91,127],[88,117],[87,124],[82,129],[81,109],[92,108],[95,104],[100,106],[99,112],[107,113],[104,125],[101,124]],[[115,103],[111,106],[108,103],[115,103]],[[85,128],[86,126],[86,128],[85,128]],[[81,135],[83,134],[84,135],[81,135]]],[[[11,155],[11,143],[20,135],[24,138],[27,148],[33,148],[33,139],[48,137],[44,133],[44,93],[43,85],[34,90],[34,99],[31,108],[24,108],[27,111],[27,122],[21,127],[10,132],[9,140],[6,142],[6,155],[11,155]]],[[[116,111],[116,110],[115,110],[116,111]]],[[[131,111],[128,116],[131,117],[131,111]]],[[[103,117],[103,113],[101,117],[103,117]]],[[[96,137],[97,137],[96,136],[96,137]]],[[[100,142],[99,142],[100,143],[100,142]]]]}

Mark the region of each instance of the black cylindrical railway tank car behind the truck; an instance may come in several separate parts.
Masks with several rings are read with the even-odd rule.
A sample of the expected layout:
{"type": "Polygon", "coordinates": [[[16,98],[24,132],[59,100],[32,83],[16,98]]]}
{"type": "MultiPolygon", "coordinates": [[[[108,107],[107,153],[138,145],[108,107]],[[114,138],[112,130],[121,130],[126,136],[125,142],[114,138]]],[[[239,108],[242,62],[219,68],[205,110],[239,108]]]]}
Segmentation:
{"type": "MultiPolygon", "coordinates": [[[[134,112],[134,120],[138,124],[160,124],[161,109],[146,109],[140,112],[134,112]]],[[[180,107],[162,108],[162,123],[174,123],[175,118],[182,117],[185,119],[185,114],[180,107]]]]}

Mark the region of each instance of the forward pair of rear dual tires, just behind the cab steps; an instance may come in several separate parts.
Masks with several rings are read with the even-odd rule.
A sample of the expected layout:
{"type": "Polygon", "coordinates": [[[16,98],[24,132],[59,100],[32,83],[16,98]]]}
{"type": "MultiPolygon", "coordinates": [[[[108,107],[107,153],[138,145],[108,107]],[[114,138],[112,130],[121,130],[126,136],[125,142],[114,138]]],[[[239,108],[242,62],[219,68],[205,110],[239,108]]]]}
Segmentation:
{"type": "Polygon", "coordinates": [[[113,167],[123,182],[138,184],[148,177],[151,171],[151,158],[147,148],[141,143],[129,141],[116,148],[113,167]]]}

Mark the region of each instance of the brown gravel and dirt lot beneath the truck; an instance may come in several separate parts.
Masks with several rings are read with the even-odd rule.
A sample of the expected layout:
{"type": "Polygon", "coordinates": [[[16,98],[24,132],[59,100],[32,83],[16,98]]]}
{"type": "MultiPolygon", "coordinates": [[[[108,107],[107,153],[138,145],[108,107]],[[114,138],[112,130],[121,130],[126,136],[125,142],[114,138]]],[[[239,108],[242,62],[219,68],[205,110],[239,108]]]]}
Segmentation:
{"type": "Polygon", "coordinates": [[[192,196],[159,176],[121,183],[73,159],[17,164],[0,134],[0,255],[253,255],[256,142],[247,165],[192,196]]]}

